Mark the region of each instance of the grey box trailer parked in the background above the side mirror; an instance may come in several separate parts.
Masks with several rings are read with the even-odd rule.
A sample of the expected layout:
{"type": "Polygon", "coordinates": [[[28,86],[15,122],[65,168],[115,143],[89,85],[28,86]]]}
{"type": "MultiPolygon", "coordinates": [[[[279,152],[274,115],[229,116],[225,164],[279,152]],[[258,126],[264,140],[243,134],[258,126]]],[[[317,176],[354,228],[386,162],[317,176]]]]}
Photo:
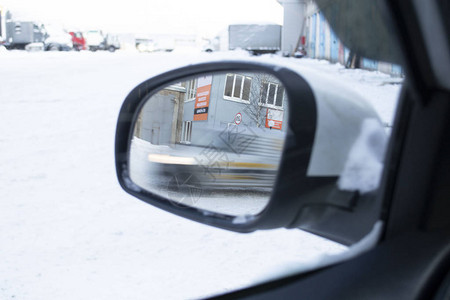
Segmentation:
{"type": "Polygon", "coordinates": [[[281,25],[233,24],[228,27],[228,50],[243,49],[255,55],[281,50],[281,25]]]}

